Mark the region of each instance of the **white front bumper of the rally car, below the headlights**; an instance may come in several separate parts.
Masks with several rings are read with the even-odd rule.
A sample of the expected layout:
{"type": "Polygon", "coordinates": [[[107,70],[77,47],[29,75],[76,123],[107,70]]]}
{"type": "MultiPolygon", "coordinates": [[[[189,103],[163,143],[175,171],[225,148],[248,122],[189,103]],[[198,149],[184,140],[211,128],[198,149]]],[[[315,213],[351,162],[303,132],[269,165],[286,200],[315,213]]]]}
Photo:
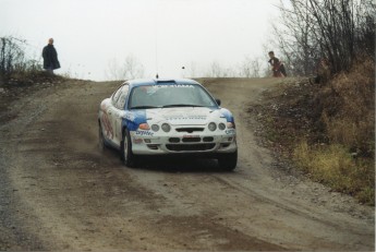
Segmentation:
{"type": "Polygon", "coordinates": [[[235,131],[220,133],[154,133],[131,131],[132,152],[136,155],[203,155],[234,153],[238,149],[235,131]]]}

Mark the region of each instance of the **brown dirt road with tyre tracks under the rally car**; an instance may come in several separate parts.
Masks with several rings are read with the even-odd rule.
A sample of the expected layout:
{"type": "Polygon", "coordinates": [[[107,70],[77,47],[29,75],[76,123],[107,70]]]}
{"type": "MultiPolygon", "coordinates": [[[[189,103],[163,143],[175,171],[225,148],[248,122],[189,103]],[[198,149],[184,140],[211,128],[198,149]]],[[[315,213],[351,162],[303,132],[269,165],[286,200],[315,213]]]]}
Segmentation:
{"type": "Polygon", "coordinates": [[[202,80],[236,120],[239,163],[122,166],[97,147],[97,109],[119,83],[70,81],[12,105],[0,127],[0,250],[366,250],[374,208],[278,169],[252,118],[272,79],[202,80]]]}

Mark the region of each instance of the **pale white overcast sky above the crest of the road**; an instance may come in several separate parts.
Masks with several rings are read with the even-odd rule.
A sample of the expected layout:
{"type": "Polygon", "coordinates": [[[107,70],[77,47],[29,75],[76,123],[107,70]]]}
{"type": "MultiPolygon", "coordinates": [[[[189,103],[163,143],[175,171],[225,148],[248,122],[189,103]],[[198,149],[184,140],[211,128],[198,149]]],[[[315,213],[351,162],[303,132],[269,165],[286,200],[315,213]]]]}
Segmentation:
{"type": "MultiPolygon", "coordinates": [[[[133,56],[145,76],[203,75],[265,57],[278,0],[0,0],[0,36],[24,38],[40,59],[53,37],[59,74],[105,80],[133,56]],[[182,73],[182,67],[185,73],[182,73]]],[[[269,48],[268,48],[269,49],[269,48]]],[[[272,48],[270,48],[272,49],[272,48]]]]}

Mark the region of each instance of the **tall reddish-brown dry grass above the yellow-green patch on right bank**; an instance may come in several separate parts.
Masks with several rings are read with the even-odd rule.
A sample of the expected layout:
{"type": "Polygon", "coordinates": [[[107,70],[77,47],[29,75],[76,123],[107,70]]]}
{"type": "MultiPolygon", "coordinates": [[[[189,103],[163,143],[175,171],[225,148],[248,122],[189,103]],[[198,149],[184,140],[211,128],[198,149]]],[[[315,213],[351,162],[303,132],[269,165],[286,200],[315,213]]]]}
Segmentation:
{"type": "Polygon", "coordinates": [[[374,68],[371,60],[359,63],[350,73],[336,76],[323,91],[330,88],[339,101],[333,115],[328,115],[326,109],[323,111],[330,143],[348,146],[361,156],[374,156],[375,149],[374,68]]]}

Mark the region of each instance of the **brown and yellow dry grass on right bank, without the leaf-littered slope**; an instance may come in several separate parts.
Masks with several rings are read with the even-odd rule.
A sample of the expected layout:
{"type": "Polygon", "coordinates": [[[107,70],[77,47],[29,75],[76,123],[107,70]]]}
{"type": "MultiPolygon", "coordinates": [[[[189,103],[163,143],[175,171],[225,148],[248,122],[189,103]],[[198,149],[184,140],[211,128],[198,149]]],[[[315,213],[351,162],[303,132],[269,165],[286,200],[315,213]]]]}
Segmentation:
{"type": "Polygon", "coordinates": [[[295,144],[293,159],[333,190],[375,204],[375,64],[359,62],[318,89],[326,144],[295,144]]]}

